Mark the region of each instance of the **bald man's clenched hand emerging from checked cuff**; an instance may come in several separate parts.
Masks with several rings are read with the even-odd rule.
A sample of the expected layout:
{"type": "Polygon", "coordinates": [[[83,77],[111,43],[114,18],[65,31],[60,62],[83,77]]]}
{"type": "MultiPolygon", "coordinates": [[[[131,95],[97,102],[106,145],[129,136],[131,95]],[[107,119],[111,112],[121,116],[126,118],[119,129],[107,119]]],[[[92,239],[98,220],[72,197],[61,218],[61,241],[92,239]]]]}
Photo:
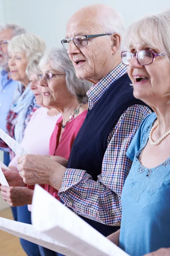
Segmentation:
{"type": "Polygon", "coordinates": [[[18,157],[17,161],[20,176],[26,184],[49,184],[60,189],[66,169],[50,157],[25,154],[18,157]]]}

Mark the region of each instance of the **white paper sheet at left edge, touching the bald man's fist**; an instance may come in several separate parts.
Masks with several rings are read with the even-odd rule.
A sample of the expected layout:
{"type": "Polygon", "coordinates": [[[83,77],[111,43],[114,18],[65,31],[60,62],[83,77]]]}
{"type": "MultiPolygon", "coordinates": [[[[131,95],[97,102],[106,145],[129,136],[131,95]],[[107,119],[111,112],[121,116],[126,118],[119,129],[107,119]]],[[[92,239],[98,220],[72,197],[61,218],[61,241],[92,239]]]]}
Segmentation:
{"type": "Polygon", "coordinates": [[[16,155],[22,156],[27,154],[25,149],[2,129],[0,129],[0,138],[14,151],[16,155]]]}

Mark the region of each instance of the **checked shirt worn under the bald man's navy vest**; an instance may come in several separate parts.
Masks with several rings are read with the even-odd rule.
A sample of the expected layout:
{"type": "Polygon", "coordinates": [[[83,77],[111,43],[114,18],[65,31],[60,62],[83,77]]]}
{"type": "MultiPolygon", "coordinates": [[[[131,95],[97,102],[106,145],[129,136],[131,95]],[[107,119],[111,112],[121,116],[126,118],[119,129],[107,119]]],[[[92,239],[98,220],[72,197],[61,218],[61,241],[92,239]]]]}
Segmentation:
{"type": "MultiPolygon", "coordinates": [[[[87,92],[89,109],[93,108],[109,86],[126,73],[119,64],[87,92]]],[[[101,174],[94,181],[85,170],[66,169],[59,197],[79,215],[107,225],[120,226],[121,193],[130,171],[131,160],[126,151],[142,120],[151,113],[144,105],[133,105],[120,116],[111,129],[103,157],[101,174]]]]}

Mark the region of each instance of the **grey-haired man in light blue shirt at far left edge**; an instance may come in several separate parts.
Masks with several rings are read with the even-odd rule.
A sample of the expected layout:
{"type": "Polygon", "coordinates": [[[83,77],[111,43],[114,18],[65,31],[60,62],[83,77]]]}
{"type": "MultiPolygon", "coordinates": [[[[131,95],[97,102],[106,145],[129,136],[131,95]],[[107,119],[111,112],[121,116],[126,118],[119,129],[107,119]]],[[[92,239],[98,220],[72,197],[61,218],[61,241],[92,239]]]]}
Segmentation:
{"type": "MultiPolygon", "coordinates": [[[[18,81],[13,81],[8,68],[8,42],[15,35],[25,33],[25,29],[18,25],[6,24],[0,27],[0,128],[6,131],[6,118],[13,100],[14,91],[17,88],[18,81]]],[[[4,151],[4,163],[8,166],[10,162],[8,148],[3,140],[0,139],[0,149],[4,151]]]]}

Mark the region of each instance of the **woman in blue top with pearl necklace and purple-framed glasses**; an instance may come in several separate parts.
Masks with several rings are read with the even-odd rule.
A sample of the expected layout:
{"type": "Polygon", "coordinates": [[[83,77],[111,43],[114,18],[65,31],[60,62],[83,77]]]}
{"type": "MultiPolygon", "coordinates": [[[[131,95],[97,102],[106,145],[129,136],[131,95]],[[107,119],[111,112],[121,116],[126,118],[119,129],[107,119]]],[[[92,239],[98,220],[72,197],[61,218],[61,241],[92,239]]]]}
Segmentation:
{"type": "Polygon", "coordinates": [[[122,190],[121,229],[108,238],[131,256],[170,255],[170,10],[133,23],[126,44],[122,62],[133,95],[155,113],[127,150],[133,164],[122,190]]]}

